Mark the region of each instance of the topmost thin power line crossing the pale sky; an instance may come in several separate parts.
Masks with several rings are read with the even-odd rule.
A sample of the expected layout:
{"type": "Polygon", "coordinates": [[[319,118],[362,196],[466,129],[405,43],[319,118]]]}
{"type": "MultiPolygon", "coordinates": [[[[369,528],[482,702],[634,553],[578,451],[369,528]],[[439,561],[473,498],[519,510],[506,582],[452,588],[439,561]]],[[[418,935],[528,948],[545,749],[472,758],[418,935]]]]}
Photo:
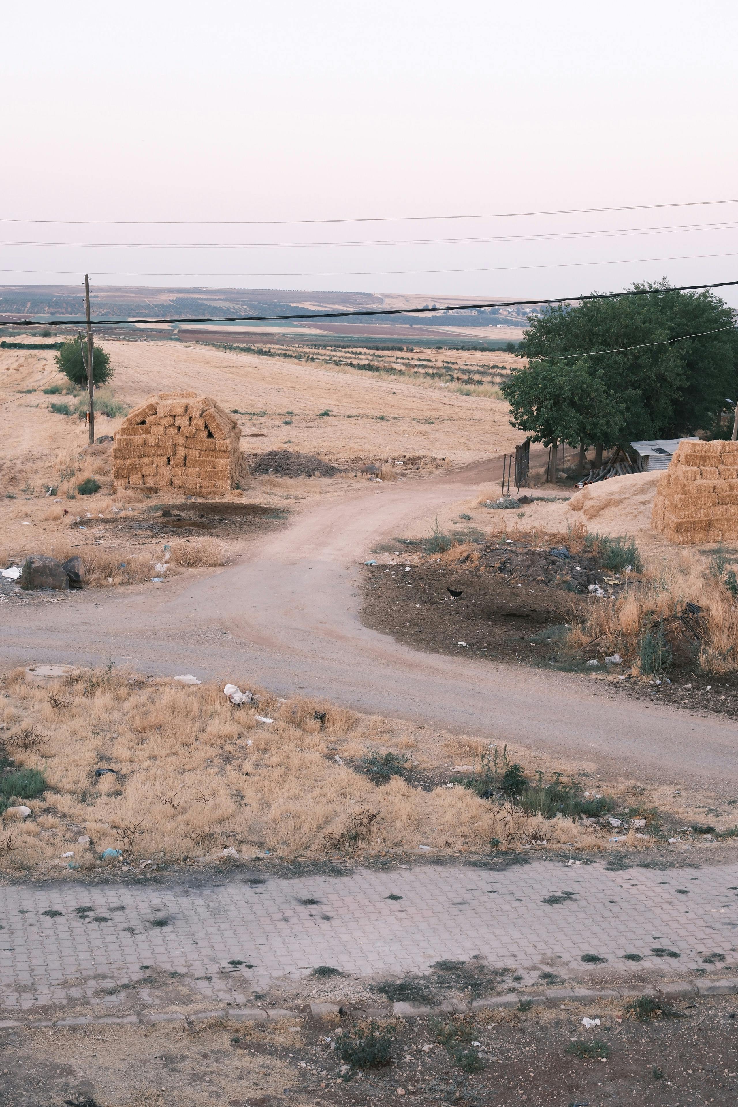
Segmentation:
{"type": "Polygon", "coordinates": [[[738,200],[683,200],[675,204],[626,204],[601,208],[553,208],[549,211],[495,211],[487,215],[350,216],[342,219],[12,219],[0,223],[54,224],[65,227],[278,227],[331,223],[432,223],[443,219],[517,219],[539,215],[593,215],[601,211],[652,211],[656,208],[708,207],[738,200]]]}

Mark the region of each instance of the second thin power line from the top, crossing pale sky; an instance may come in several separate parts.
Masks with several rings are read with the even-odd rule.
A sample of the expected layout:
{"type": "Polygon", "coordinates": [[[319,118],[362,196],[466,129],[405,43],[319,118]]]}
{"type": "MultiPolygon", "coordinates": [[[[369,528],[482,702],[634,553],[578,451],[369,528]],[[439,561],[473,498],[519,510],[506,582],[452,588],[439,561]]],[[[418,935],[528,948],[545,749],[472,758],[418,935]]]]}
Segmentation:
{"type": "Polygon", "coordinates": [[[471,235],[467,238],[370,238],[343,241],[312,242],[58,242],[37,239],[0,239],[0,246],[51,246],[83,249],[122,250],[266,250],[266,249],[323,249],[356,246],[448,246],[475,242],[521,242],[554,239],[621,238],[624,235],[662,235],[668,231],[729,230],[738,226],[735,220],[723,223],[667,224],[657,227],[622,227],[611,230],[561,230],[530,235],[471,235]]]}

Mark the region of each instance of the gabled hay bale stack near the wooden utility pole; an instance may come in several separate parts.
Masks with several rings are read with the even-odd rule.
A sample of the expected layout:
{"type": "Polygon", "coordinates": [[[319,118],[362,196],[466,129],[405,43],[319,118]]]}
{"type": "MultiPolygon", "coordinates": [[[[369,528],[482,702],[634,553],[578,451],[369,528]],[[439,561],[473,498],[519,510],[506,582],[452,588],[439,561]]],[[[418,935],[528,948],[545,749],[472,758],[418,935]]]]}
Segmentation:
{"type": "Polygon", "coordinates": [[[162,392],[125,420],[113,443],[116,488],[217,496],[241,475],[236,420],[210,396],[162,392]]]}

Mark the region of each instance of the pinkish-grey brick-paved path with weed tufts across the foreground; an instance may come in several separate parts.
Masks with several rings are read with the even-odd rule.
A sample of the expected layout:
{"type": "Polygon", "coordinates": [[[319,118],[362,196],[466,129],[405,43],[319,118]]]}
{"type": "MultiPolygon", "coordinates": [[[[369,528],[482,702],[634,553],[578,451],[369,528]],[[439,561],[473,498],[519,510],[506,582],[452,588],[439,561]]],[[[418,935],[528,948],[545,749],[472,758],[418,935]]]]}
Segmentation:
{"type": "MultiPolygon", "coordinates": [[[[418,867],[261,884],[237,877],[191,889],[4,887],[0,1011],[31,1012],[95,994],[103,1008],[114,1007],[119,996],[101,997],[101,989],[141,982],[142,965],[181,973],[208,1003],[237,1005],[253,989],[299,980],[321,964],[385,976],[481,953],[529,982],[559,956],[557,972],[582,981],[591,971],[583,953],[607,958],[619,973],[631,966],[621,960],[625,953],[640,953],[645,960],[636,970],[673,975],[704,969],[701,955],[710,952],[726,955],[725,969],[738,961],[737,896],[738,865],[607,872],[600,865],[540,861],[505,872],[418,867]],[[562,892],[574,894],[542,902],[562,892]],[[92,921],[75,912],[80,907],[94,909],[86,915],[92,921]],[[43,913],[50,910],[61,914],[43,913]],[[157,928],[157,918],[170,921],[157,928]],[[680,958],[659,960],[653,946],[680,958]],[[224,973],[230,960],[253,968],[224,973]]],[[[156,1002],[145,984],[138,996],[156,1002]]]]}

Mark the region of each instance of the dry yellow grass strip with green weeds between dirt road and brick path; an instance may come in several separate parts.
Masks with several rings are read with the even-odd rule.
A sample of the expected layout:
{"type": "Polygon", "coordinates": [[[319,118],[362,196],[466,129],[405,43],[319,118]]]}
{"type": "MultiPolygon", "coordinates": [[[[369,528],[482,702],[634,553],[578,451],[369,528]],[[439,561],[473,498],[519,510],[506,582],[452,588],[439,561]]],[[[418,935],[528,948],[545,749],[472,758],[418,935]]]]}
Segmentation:
{"type": "MultiPolygon", "coordinates": [[[[657,845],[658,789],[606,786],[595,774],[607,792],[595,800],[579,779],[541,783],[563,765],[536,758],[523,770],[513,749],[330,703],[261,692],[237,705],[217,685],[90,670],[52,689],[19,670],[3,689],[8,872],[93,871],[106,849],[121,851],[115,867],[267,855],[320,862],[419,847],[436,857],[599,851],[613,810],[642,813],[648,827],[631,827],[628,848],[657,845]],[[19,818],[19,805],[31,814],[19,818]]],[[[685,795],[685,813],[699,801],[685,795]]]]}

